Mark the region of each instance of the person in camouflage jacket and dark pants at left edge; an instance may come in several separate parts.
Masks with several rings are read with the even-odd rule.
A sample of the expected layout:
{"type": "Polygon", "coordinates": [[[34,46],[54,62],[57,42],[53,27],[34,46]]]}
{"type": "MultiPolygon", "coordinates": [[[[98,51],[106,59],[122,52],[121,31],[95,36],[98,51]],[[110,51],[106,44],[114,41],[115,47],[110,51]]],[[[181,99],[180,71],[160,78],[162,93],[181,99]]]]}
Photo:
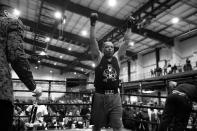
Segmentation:
{"type": "Polygon", "coordinates": [[[36,88],[27,57],[23,49],[23,24],[13,15],[13,8],[0,5],[0,116],[1,131],[11,131],[13,122],[13,85],[9,64],[26,85],[41,94],[36,88]]]}

